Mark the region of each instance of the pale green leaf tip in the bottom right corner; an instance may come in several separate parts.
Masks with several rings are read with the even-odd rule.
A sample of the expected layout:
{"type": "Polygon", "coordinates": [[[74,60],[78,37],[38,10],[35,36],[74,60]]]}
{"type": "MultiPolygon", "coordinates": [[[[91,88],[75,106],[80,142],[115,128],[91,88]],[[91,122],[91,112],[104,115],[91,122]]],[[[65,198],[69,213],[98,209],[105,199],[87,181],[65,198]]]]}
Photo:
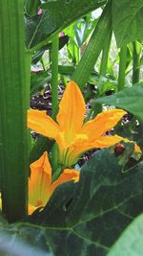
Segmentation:
{"type": "Polygon", "coordinates": [[[112,246],[108,256],[141,256],[143,253],[143,214],[138,216],[112,246]]]}

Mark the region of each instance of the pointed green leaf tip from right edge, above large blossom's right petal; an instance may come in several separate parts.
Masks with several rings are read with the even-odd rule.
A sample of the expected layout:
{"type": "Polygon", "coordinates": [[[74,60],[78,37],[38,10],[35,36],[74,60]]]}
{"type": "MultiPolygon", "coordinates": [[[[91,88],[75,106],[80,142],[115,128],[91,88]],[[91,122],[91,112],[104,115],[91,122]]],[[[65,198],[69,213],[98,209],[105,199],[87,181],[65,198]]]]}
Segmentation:
{"type": "Polygon", "coordinates": [[[143,120],[143,82],[133,84],[133,87],[125,88],[96,102],[124,108],[143,120]]]}

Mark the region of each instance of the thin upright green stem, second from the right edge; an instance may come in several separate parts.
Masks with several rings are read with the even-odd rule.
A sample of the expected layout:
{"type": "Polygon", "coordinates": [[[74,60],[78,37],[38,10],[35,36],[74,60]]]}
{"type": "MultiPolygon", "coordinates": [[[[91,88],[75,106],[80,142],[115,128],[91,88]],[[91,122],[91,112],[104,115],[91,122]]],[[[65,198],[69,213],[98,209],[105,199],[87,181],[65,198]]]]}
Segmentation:
{"type": "Polygon", "coordinates": [[[127,61],[127,45],[124,45],[120,49],[118,91],[122,90],[124,88],[124,85],[125,85],[126,61],[127,61]]]}

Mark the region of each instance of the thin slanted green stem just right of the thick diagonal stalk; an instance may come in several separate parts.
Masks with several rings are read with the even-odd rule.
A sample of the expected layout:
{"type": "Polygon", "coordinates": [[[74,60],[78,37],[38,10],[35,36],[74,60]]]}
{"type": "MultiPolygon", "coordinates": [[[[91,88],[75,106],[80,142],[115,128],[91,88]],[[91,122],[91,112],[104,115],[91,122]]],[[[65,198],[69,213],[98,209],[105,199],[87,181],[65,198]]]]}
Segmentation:
{"type": "Polygon", "coordinates": [[[106,38],[106,42],[103,46],[101,65],[100,65],[100,76],[105,77],[108,65],[109,52],[111,47],[112,31],[106,38]]]}

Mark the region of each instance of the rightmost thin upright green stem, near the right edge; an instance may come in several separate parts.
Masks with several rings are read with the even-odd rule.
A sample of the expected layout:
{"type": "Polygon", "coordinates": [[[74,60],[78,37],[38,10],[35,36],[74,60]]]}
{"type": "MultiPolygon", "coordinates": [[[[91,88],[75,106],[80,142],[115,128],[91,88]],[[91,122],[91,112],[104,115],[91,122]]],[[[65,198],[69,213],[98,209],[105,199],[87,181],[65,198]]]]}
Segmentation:
{"type": "Polygon", "coordinates": [[[137,41],[133,42],[133,83],[139,82],[140,73],[140,45],[137,41]]]}

